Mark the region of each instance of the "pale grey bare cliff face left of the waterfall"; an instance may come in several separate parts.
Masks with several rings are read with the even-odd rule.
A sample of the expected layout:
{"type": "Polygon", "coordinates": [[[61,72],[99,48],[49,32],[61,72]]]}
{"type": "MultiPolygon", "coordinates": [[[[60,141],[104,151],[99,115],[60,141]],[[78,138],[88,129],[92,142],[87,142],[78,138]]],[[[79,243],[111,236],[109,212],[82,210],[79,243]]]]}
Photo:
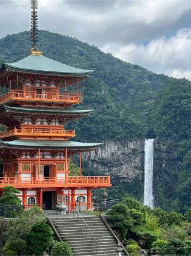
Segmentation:
{"type": "Polygon", "coordinates": [[[84,159],[112,177],[131,181],[144,171],[144,141],[106,141],[100,149],[84,154],[84,159]]]}

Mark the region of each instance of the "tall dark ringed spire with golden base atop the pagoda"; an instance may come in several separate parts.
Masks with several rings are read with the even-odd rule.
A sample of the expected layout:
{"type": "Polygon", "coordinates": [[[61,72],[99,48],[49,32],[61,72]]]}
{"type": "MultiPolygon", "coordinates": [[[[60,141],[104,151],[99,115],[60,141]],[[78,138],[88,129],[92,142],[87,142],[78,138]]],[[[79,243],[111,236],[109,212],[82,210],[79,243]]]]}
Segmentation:
{"type": "Polygon", "coordinates": [[[39,51],[38,43],[38,1],[30,0],[31,11],[31,42],[32,49],[29,52],[29,55],[42,55],[42,52],[39,51]]]}

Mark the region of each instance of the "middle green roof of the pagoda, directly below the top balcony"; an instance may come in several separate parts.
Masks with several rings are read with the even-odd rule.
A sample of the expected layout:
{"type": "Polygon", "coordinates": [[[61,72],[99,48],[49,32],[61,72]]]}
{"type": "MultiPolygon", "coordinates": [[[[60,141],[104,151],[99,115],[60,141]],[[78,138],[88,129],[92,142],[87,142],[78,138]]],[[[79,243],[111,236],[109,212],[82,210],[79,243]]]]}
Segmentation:
{"type": "Polygon", "coordinates": [[[87,116],[94,112],[93,109],[88,110],[66,110],[66,109],[51,109],[51,108],[35,108],[35,107],[10,107],[3,106],[1,110],[7,110],[8,112],[17,113],[34,113],[34,114],[45,114],[45,115],[61,115],[61,116],[87,116]]]}

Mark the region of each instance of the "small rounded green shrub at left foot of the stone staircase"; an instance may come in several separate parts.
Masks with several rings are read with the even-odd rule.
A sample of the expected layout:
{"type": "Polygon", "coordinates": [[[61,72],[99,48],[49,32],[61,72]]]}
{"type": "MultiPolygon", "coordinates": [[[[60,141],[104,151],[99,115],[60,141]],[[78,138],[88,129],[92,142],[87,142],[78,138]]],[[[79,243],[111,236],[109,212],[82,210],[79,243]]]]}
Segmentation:
{"type": "Polygon", "coordinates": [[[72,248],[66,242],[56,242],[51,250],[51,256],[72,256],[72,248]]]}

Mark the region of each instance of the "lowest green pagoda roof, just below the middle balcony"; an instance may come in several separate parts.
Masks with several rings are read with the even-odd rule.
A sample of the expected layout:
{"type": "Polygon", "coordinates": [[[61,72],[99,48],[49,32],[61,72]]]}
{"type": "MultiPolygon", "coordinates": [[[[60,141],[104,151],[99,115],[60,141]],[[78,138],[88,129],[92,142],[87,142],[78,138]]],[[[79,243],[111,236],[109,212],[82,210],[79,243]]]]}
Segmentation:
{"type": "Polygon", "coordinates": [[[20,149],[67,149],[67,150],[93,150],[102,146],[103,143],[83,143],[76,141],[59,140],[0,140],[1,147],[11,147],[20,149]]]}

